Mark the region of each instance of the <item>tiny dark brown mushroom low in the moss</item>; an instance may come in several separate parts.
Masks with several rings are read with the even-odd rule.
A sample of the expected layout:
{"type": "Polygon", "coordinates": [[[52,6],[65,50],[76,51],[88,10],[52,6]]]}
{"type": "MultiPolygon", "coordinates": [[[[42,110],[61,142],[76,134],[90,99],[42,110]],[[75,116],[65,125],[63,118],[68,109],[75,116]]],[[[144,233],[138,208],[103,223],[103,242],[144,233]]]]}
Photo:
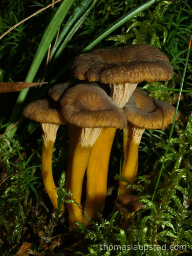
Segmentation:
{"type": "Polygon", "coordinates": [[[121,228],[126,228],[134,213],[141,209],[143,203],[138,202],[139,197],[134,195],[122,195],[115,200],[115,205],[123,215],[121,228]]]}

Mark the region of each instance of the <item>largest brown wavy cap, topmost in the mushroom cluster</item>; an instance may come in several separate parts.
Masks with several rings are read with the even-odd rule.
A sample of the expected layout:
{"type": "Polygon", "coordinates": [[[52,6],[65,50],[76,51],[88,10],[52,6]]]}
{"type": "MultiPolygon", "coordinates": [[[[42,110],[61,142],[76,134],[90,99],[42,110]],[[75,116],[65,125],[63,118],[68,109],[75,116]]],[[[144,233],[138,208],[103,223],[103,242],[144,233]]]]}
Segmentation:
{"type": "Polygon", "coordinates": [[[80,80],[111,84],[164,81],[174,74],[164,53],[142,44],[81,54],[74,59],[70,72],[80,80]]]}

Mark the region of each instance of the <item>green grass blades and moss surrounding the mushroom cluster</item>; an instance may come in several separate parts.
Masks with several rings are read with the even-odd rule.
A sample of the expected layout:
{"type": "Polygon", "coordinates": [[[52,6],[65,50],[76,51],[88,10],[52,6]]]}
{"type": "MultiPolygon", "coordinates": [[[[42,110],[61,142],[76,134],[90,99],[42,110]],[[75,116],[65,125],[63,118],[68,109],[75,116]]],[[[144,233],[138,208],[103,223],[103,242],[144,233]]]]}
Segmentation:
{"type": "MultiPolygon", "coordinates": [[[[48,4],[48,0],[1,1],[1,34],[48,4]]],[[[178,93],[183,96],[179,104],[180,119],[175,126],[168,126],[162,131],[146,130],[142,137],[138,180],[136,184],[127,182],[127,186],[141,198],[143,207],[125,230],[120,228],[120,212],[112,213],[118,192],[116,179],[122,179],[119,176],[123,158],[122,132],[117,132],[112,148],[109,196],[104,214],[100,216],[99,223],[92,221],[89,228],[78,223],[78,228],[74,230],[68,228],[66,216],[59,217],[60,206],[68,196],[63,188],[63,170],[67,168],[69,152],[67,127],[59,128],[53,152],[53,175],[58,185],[59,207],[52,214],[52,205],[43,191],[40,178],[40,127],[22,118],[0,139],[2,255],[15,254],[25,241],[33,244],[31,253],[34,255],[191,254],[192,68],[191,51],[188,51],[191,16],[189,0],[65,0],[55,4],[53,10],[49,8],[27,20],[2,38],[0,81],[44,79],[49,84],[0,95],[1,134],[22,116],[25,105],[32,100],[48,98],[48,89],[53,84],[70,77],[70,62],[76,55],[96,48],[137,43],[156,46],[169,57],[174,77],[166,82],[142,82],[139,87],[150,96],[169,103],[171,98],[177,98],[178,93]],[[46,67],[50,44],[52,57],[46,67]],[[180,88],[181,84],[183,88],[180,88]],[[146,250],[122,249],[131,245],[135,248],[145,246],[146,250]],[[156,247],[150,249],[150,245],[156,247]],[[163,245],[166,250],[159,252],[158,246],[163,245]],[[121,250],[117,246],[121,246],[121,250]],[[168,249],[170,246],[182,247],[175,247],[174,251],[168,249]]]]}

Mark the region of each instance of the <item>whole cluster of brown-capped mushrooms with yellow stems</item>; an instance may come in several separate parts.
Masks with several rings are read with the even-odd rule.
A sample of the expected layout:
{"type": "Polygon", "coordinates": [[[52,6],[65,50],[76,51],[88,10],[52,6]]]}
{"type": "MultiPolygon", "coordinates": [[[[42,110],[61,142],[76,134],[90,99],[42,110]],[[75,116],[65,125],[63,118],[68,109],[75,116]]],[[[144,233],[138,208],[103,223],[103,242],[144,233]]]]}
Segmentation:
{"type": "MultiPolygon", "coordinates": [[[[87,172],[84,216],[77,204],[67,205],[72,227],[76,221],[89,224],[89,218],[97,220],[97,213],[103,211],[116,130],[123,129],[122,176],[134,182],[138,145],[144,129],[163,129],[172,123],[175,108],[136,88],[142,81],[162,81],[173,76],[167,56],[151,45],[97,49],[81,54],[74,59],[70,72],[75,80],[51,88],[52,101],[32,102],[23,113],[41,124],[42,178],[54,208],[57,193],[52,175],[53,145],[59,125],[69,125],[66,187],[79,206],[87,172]],[[111,88],[110,95],[103,90],[104,85],[111,88]]],[[[130,193],[125,185],[119,182],[120,195],[130,193]]]]}

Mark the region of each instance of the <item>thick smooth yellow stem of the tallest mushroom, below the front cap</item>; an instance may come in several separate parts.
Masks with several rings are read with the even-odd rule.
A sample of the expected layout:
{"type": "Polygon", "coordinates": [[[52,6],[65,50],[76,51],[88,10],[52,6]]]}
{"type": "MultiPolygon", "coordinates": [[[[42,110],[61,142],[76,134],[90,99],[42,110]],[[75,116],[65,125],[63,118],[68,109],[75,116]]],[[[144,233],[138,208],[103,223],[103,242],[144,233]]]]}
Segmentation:
{"type": "MultiPolygon", "coordinates": [[[[104,209],[109,160],[116,130],[116,128],[110,127],[102,128],[93,146],[87,166],[86,203],[84,211],[86,215],[94,220],[98,219],[97,213],[102,213],[104,209]]],[[[85,222],[89,224],[88,220],[85,220],[85,222]]]]}

